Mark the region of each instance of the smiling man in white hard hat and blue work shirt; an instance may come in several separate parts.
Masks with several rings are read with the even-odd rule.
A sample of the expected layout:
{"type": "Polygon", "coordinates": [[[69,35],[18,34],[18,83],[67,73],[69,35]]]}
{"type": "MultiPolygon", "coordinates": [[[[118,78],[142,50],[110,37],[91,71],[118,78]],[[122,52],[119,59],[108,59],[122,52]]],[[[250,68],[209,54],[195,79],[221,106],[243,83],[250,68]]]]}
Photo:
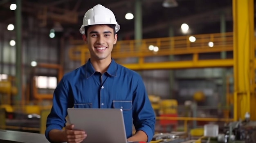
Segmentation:
{"type": "Polygon", "coordinates": [[[128,141],[148,142],[153,138],[155,114],[141,77],[111,57],[119,29],[114,13],[100,4],[85,13],[80,32],[88,44],[90,59],[65,74],[54,91],[45,131],[50,142],[80,143],[86,138],[86,131],[72,130],[74,125],[62,130],[67,108],[72,107],[121,108],[128,141]]]}

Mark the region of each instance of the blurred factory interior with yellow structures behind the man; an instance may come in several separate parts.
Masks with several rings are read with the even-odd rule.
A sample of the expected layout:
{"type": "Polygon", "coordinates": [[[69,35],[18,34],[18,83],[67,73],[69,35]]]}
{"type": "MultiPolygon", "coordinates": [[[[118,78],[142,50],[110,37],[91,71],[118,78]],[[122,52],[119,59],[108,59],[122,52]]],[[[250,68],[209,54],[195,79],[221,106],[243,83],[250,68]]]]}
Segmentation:
{"type": "Polygon", "coordinates": [[[54,89],[90,58],[79,29],[96,4],[121,26],[112,58],[144,81],[150,143],[256,143],[254,0],[0,0],[0,142],[48,143],[54,89]]]}

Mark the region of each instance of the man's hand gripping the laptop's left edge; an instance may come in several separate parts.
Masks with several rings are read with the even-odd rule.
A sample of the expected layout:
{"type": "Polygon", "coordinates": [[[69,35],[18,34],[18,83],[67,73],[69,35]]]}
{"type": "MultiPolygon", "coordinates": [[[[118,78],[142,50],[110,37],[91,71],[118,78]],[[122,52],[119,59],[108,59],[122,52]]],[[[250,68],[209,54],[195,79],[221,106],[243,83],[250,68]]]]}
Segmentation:
{"type": "Polygon", "coordinates": [[[67,125],[65,127],[65,135],[67,143],[81,143],[87,136],[85,131],[73,130],[74,125],[67,125]]]}

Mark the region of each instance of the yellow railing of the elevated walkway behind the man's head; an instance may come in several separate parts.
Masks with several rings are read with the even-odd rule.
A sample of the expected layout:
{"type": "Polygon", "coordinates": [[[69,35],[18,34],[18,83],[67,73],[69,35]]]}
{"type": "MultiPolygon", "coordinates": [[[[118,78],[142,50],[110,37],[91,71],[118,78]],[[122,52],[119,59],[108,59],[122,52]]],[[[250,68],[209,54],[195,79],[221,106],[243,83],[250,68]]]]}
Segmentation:
{"type": "MultiPolygon", "coordinates": [[[[114,59],[128,57],[150,57],[165,55],[180,55],[194,53],[211,53],[233,50],[233,33],[213,33],[193,35],[195,42],[189,41],[189,35],[178,37],[163,37],[143,40],[118,41],[112,51],[114,59]],[[209,46],[213,43],[213,47],[209,46]],[[149,46],[157,46],[159,51],[149,50],[149,46]]],[[[73,45],[69,51],[71,60],[81,60],[81,64],[90,57],[89,50],[83,41],[71,41],[73,45]]]]}

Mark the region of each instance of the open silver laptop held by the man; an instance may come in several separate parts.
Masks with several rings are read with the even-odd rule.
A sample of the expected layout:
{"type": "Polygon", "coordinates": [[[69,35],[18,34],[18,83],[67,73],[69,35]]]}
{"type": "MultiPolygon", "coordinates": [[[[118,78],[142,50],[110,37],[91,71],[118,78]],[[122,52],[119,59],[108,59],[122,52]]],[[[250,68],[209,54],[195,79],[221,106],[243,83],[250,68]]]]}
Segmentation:
{"type": "Polygon", "coordinates": [[[82,143],[128,143],[121,109],[68,108],[68,120],[75,130],[84,130],[82,143]]]}

